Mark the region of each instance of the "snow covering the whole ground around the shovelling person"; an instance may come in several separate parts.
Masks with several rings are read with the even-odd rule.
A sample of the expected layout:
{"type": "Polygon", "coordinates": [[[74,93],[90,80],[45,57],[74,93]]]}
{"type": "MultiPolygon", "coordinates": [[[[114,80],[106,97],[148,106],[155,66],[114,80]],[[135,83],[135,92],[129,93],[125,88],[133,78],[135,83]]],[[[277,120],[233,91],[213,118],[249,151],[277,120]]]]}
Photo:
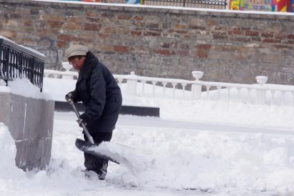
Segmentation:
{"type": "MultiPolygon", "coordinates": [[[[56,81],[62,86],[63,81],[56,81]]],[[[68,92],[46,89],[54,99],[68,92]]],[[[83,155],[74,142],[82,134],[73,112],[55,112],[52,156],[45,171],[24,173],[12,166],[15,144],[0,124],[0,195],[294,195],[294,135],[278,132],[294,129],[293,106],[127,99],[129,104],[132,100],[159,106],[161,117],[120,116],[111,142],[130,147],[125,152],[133,166],[110,164],[105,181],[80,172],[83,155]],[[171,126],[171,121],[195,127],[171,126]],[[219,124],[233,124],[235,133],[226,126],[219,131],[219,124]],[[277,131],[252,133],[256,127],[277,131]],[[246,128],[247,133],[239,133],[246,128]]]]}

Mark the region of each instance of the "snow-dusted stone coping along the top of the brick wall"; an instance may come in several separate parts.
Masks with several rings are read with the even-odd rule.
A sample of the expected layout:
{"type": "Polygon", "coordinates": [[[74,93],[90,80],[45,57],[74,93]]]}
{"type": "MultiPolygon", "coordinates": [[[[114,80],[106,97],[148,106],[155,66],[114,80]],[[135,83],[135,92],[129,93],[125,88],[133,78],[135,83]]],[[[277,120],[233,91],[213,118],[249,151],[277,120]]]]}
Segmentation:
{"type": "Polygon", "coordinates": [[[30,6],[59,6],[66,8],[98,8],[100,10],[120,10],[130,12],[166,12],[173,14],[192,14],[192,15],[210,15],[210,16],[222,16],[222,17],[241,17],[250,19],[284,19],[294,20],[294,14],[289,12],[250,12],[250,11],[231,11],[231,10],[208,10],[201,8],[182,8],[182,7],[168,7],[168,6],[138,6],[129,4],[111,4],[111,3],[68,3],[66,1],[49,2],[49,1],[29,1],[29,0],[0,0],[0,3],[22,3],[30,6]]]}

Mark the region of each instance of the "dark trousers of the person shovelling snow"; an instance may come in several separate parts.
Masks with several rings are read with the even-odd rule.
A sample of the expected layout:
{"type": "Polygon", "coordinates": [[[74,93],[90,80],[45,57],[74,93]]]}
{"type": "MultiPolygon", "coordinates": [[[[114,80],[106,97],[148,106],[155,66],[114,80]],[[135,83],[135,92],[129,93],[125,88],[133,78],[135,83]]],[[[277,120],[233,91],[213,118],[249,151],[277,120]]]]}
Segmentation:
{"type": "MultiPolygon", "coordinates": [[[[102,141],[110,141],[112,137],[112,131],[111,132],[97,132],[97,133],[90,133],[90,135],[93,137],[93,140],[95,144],[100,144],[102,141]]],[[[86,138],[86,135],[84,135],[85,141],[88,141],[86,138]]],[[[99,170],[102,168],[103,163],[107,163],[108,161],[105,159],[100,159],[98,157],[95,157],[93,155],[89,155],[84,153],[84,166],[89,169],[93,170],[96,173],[99,172],[99,170]]]]}

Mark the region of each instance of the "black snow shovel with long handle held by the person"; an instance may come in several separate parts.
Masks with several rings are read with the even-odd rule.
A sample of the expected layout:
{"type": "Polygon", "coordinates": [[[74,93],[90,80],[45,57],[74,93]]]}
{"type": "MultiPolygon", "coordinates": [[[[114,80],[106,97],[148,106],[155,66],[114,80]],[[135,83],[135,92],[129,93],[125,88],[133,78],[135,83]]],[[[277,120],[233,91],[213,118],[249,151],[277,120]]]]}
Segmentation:
{"type": "MultiPolygon", "coordinates": [[[[75,115],[77,115],[77,119],[80,121],[80,112],[77,110],[77,107],[75,106],[75,103],[73,102],[72,99],[66,99],[66,101],[68,102],[68,104],[71,104],[71,106],[73,107],[73,110],[75,111],[75,115]]],[[[75,140],[75,146],[79,149],[82,150],[84,153],[88,153],[90,155],[94,155],[95,157],[99,157],[101,159],[105,159],[105,160],[109,160],[109,161],[113,161],[116,164],[120,164],[118,161],[116,161],[115,159],[112,159],[111,157],[107,156],[107,155],[103,155],[101,153],[98,153],[97,151],[93,150],[93,147],[97,147],[98,145],[95,145],[93,138],[91,137],[88,129],[86,128],[86,125],[84,124],[84,122],[82,121],[82,128],[83,133],[86,135],[86,138],[89,141],[84,141],[82,139],[76,139],[75,140]]]]}

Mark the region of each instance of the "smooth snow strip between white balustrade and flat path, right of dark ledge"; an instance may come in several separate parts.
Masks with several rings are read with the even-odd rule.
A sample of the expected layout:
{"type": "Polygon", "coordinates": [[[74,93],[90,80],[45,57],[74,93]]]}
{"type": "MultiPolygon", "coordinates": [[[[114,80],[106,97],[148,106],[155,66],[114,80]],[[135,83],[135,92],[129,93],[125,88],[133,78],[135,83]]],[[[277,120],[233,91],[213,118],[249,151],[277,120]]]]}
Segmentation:
{"type": "Polygon", "coordinates": [[[205,121],[220,124],[284,127],[294,131],[293,106],[268,106],[224,101],[164,101],[155,99],[160,106],[160,117],[179,121],[205,121]],[[181,114],[181,115],[179,115],[181,114]]]}

